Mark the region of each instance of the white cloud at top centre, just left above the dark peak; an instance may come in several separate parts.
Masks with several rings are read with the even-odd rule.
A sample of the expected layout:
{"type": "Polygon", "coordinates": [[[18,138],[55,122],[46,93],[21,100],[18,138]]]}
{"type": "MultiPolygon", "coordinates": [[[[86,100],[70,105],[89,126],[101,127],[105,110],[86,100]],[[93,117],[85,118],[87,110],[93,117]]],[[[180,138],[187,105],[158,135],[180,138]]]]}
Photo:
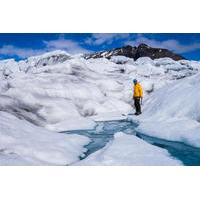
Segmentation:
{"type": "Polygon", "coordinates": [[[93,33],[85,40],[85,43],[89,45],[111,44],[114,40],[128,37],[129,33],[93,33]]]}

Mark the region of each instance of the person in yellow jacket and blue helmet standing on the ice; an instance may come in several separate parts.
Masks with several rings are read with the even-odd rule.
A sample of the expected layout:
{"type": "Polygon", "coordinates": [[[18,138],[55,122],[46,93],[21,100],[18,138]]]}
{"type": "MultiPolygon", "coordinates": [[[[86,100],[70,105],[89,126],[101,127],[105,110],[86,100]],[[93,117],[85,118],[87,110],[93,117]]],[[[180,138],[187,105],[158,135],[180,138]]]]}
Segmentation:
{"type": "Polygon", "coordinates": [[[141,111],[141,102],[143,98],[142,86],[139,84],[137,79],[134,79],[133,83],[134,83],[133,99],[136,110],[135,115],[140,115],[142,113],[141,111]]]}

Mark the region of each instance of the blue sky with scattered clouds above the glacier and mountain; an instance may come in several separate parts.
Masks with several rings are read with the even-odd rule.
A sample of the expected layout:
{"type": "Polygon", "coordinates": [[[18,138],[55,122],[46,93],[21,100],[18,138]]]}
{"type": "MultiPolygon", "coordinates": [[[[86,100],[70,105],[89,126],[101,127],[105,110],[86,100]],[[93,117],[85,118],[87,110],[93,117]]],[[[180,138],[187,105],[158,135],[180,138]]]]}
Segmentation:
{"type": "Polygon", "coordinates": [[[200,34],[192,33],[4,33],[0,34],[0,59],[25,59],[58,49],[71,54],[90,53],[140,43],[200,60],[200,34]]]}

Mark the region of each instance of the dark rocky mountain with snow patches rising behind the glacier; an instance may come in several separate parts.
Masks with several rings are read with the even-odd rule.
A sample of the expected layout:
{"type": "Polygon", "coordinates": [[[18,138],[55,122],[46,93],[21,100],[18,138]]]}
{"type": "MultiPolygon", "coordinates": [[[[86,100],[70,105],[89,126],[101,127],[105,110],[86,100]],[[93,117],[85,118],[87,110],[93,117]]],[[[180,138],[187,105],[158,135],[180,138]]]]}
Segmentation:
{"type": "Polygon", "coordinates": [[[138,47],[132,47],[130,45],[121,48],[112,49],[110,51],[101,51],[94,54],[86,55],[86,59],[89,58],[108,58],[112,56],[126,56],[137,60],[140,57],[150,57],[151,59],[169,57],[173,60],[185,59],[181,55],[175,54],[168,49],[152,48],[146,44],[140,44],[138,47]]]}

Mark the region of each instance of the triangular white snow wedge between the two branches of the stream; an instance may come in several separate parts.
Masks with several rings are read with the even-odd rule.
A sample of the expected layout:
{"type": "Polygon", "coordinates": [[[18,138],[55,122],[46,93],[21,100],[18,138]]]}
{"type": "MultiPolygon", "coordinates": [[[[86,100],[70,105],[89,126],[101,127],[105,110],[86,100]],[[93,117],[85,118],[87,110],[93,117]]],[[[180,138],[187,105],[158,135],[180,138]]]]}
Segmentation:
{"type": "Polygon", "coordinates": [[[103,149],[74,165],[181,165],[167,150],[148,144],[134,135],[118,132],[103,149]]]}

